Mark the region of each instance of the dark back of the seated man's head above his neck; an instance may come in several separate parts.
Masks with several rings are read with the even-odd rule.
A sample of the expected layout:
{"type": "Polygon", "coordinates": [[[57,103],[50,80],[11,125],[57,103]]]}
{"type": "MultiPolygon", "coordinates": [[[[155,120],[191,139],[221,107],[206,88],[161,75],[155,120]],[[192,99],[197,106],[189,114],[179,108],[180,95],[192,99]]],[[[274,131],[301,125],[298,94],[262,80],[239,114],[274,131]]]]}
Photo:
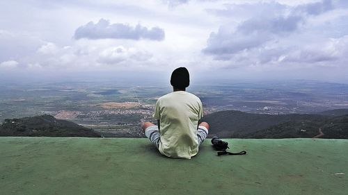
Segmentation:
{"type": "Polygon", "coordinates": [[[177,68],[171,76],[171,85],[177,89],[185,89],[190,85],[190,74],[185,67],[177,68]]]}

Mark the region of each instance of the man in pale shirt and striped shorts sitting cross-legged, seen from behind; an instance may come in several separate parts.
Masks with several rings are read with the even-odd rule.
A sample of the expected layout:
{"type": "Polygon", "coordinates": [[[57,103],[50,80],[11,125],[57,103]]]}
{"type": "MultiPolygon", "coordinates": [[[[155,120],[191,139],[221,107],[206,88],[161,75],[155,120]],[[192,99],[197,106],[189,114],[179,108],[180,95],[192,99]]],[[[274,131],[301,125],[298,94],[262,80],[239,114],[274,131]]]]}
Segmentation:
{"type": "Polygon", "coordinates": [[[175,69],[171,75],[173,92],[161,96],[156,103],[153,117],[158,126],[150,122],[142,124],[146,137],[162,155],[171,158],[191,159],[208,134],[209,125],[198,123],[203,117],[202,102],[186,92],[189,83],[189,71],[184,67],[175,69]]]}

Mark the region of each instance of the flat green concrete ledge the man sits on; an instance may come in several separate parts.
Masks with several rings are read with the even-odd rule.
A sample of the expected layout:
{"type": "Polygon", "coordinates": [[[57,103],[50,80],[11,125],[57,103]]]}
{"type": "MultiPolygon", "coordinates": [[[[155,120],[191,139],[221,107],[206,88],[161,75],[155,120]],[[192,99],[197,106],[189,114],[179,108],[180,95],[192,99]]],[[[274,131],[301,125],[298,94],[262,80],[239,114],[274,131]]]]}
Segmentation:
{"type": "Polygon", "coordinates": [[[0,194],[347,194],[348,140],[210,140],[191,160],[148,139],[0,137],[0,194]],[[337,174],[338,173],[338,174],[337,174]]]}

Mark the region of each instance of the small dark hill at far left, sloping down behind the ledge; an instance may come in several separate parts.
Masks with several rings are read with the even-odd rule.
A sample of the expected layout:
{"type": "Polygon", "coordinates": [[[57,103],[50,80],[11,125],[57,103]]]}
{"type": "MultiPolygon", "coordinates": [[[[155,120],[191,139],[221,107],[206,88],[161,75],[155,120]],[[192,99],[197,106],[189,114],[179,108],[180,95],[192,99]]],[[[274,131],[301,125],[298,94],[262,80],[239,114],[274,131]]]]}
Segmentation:
{"type": "Polygon", "coordinates": [[[90,128],[51,115],[5,119],[0,126],[0,136],[101,137],[90,128]]]}

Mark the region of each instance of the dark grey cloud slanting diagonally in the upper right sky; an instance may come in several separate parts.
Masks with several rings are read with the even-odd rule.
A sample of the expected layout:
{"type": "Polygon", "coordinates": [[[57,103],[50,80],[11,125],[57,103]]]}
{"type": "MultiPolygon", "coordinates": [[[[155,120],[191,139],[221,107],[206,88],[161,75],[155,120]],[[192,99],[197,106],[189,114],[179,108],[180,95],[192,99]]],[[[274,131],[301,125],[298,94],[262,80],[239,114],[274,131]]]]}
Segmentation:
{"type": "Polygon", "coordinates": [[[245,49],[253,49],[274,40],[276,37],[287,35],[296,29],[301,17],[277,17],[271,19],[248,19],[233,31],[229,26],[221,26],[217,33],[211,33],[207,48],[203,53],[225,55],[238,53],[245,49]]]}

